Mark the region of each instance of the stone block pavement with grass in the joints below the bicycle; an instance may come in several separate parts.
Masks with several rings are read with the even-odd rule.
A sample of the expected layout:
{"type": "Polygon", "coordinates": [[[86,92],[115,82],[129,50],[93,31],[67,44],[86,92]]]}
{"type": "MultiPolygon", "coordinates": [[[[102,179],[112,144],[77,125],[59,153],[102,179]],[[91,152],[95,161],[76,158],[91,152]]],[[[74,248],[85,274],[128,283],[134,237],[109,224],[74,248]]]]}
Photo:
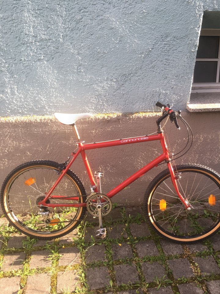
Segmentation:
{"type": "Polygon", "coordinates": [[[88,215],[78,230],[42,241],[0,218],[0,293],[220,293],[219,234],[171,243],[151,231],[141,207],[132,207],[106,216],[107,238],[100,241],[95,221],[88,215]]]}

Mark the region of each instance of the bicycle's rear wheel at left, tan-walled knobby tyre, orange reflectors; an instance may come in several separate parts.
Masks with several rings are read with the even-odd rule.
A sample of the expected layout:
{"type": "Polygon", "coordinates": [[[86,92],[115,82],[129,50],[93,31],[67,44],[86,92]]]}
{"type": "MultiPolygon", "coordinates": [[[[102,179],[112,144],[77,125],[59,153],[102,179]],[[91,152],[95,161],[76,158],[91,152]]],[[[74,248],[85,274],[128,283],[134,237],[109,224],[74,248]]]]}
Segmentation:
{"type": "MultiPolygon", "coordinates": [[[[38,202],[58,179],[59,164],[35,160],[21,164],[5,179],[1,190],[1,205],[10,224],[20,232],[37,239],[54,239],[71,232],[84,217],[85,207],[42,207],[38,202]]],[[[68,170],[52,193],[67,199],[49,198],[47,203],[82,203],[85,189],[79,178],[68,170]],[[68,197],[74,197],[69,200],[68,197]]],[[[51,196],[52,196],[51,195],[51,196]]]]}

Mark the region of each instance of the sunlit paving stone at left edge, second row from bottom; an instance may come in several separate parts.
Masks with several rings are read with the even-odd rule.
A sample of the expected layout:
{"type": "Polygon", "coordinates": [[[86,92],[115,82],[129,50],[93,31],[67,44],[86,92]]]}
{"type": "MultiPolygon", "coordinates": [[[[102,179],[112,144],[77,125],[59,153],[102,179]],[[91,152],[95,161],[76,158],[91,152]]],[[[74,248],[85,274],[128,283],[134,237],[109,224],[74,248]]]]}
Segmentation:
{"type": "Polygon", "coordinates": [[[24,259],[24,252],[5,254],[2,262],[2,270],[6,272],[10,270],[22,269],[24,259]]]}

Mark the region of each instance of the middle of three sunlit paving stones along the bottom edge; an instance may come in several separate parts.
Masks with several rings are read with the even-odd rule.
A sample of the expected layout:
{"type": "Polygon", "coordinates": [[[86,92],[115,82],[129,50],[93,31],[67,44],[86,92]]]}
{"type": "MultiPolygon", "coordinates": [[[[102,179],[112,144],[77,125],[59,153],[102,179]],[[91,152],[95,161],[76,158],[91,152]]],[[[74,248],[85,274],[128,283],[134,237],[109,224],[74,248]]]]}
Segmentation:
{"type": "Polygon", "coordinates": [[[50,294],[50,276],[47,273],[36,273],[28,276],[25,294],[50,294]]]}

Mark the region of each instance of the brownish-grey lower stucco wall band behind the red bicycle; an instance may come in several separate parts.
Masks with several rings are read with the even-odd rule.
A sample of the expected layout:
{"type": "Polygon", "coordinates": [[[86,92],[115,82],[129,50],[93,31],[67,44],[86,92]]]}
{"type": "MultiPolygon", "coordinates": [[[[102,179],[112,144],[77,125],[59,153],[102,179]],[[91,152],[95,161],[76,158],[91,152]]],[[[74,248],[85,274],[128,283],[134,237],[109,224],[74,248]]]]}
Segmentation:
{"type": "MultiPolygon", "coordinates": [[[[219,112],[189,113],[182,116],[193,128],[194,143],[190,151],[176,163],[200,163],[220,173],[220,131],[219,112]]],[[[78,122],[81,139],[98,142],[142,136],[156,130],[156,113],[127,115],[97,115],[92,119],[78,122]]],[[[181,125],[180,125],[181,126],[181,125]]],[[[187,139],[181,126],[178,131],[170,121],[166,124],[170,145],[175,150],[183,148],[187,139]]],[[[75,149],[75,136],[70,126],[59,124],[53,117],[16,117],[0,119],[0,185],[5,176],[17,165],[35,159],[48,159],[64,162],[75,149]]],[[[168,141],[167,141],[168,143],[168,141]]],[[[87,151],[93,171],[103,170],[102,192],[107,193],[148,161],[160,154],[160,142],[129,144],[87,151]]],[[[79,157],[72,170],[90,192],[90,184],[85,174],[82,159],[79,157]]],[[[123,205],[140,205],[149,182],[166,166],[153,168],[112,200],[123,205]]]]}

